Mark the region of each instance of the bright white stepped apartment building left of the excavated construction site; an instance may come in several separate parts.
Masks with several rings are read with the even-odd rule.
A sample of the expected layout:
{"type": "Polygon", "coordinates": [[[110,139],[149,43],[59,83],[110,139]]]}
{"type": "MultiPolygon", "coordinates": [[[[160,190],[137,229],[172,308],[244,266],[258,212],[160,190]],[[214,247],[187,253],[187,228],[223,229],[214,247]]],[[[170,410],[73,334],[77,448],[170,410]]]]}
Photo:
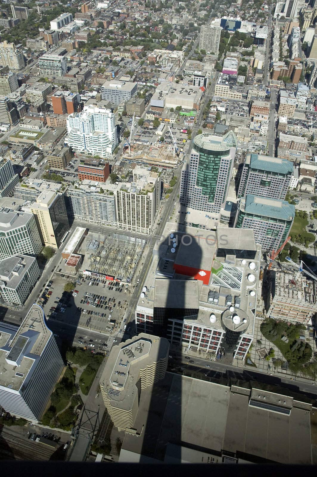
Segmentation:
{"type": "Polygon", "coordinates": [[[107,157],[118,145],[114,114],[110,109],[84,106],[67,118],[67,144],[73,151],[107,157]]]}

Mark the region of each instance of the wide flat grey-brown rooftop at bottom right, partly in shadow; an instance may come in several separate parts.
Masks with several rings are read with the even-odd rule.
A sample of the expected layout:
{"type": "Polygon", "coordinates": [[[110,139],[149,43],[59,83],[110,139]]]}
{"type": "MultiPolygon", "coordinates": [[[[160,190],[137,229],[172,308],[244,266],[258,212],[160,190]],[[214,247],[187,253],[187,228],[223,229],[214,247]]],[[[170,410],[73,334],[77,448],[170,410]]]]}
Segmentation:
{"type": "MultiPolygon", "coordinates": [[[[144,425],[143,431],[138,437],[125,434],[122,449],[163,461],[173,442],[218,455],[240,452],[283,464],[311,464],[311,409],[284,394],[166,373],[153,390],[142,391],[134,427],[140,432],[144,425]]],[[[202,462],[201,455],[199,461],[195,454],[190,457],[202,462]]]]}

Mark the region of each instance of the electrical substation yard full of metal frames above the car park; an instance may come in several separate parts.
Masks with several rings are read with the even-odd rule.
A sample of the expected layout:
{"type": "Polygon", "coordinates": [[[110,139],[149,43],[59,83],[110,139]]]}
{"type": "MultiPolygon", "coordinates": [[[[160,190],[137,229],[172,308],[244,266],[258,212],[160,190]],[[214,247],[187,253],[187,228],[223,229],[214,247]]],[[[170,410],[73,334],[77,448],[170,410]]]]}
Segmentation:
{"type": "Polygon", "coordinates": [[[89,234],[86,239],[84,270],[131,283],[142,257],[145,240],[113,233],[105,235],[89,234]]]}

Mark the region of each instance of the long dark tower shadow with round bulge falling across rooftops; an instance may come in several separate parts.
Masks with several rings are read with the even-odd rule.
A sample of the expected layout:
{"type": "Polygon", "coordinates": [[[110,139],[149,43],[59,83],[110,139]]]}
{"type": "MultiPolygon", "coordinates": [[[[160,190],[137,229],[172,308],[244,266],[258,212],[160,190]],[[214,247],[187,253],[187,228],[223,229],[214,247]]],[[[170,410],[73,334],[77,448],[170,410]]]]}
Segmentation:
{"type": "MultiPolygon", "coordinates": [[[[188,168],[189,162],[183,167],[183,174],[188,172],[188,168]]],[[[177,207],[177,223],[171,222],[165,227],[166,236],[162,237],[158,246],[153,249],[153,264],[156,263],[153,321],[146,321],[144,330],[139,326],[137,329],[138,332],[165,338],[170,343],[168,368],[164,379],[149,388],[144,403],[141,392],[139,405],[144,406],[143,415],[146,416],[146,422],[143,435],[140,436],[140,463],[164,461],[166,451],[169,455],[173,454],[173,463],[181,463],[182,442],[186,441],[182,431],[186,413],[182,392],[184,379],[188,378],[182,376],[186,363],[186,355],[182,353],[182,349],[190,346],[190,339],[184,331],[184,320],[192,322],[198,319],[198,280],[194,279],[194,274],[200,270],[202,251],[196,238],[186,234],[184,221],[187,207],[182,204],[177,207]],[[179,254],[184,267],[179,265],[179,259],[176,260],[179,254]]]]}

